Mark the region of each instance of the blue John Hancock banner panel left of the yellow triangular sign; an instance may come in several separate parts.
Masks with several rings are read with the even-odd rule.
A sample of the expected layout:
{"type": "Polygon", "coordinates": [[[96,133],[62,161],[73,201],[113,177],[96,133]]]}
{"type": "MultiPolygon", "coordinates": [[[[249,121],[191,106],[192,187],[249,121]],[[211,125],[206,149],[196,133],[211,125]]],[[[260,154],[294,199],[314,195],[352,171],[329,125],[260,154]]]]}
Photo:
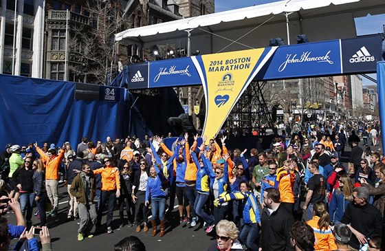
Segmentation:
{"type": "Polygon", "coordinates": [[[191,58],[174,58],[152,61],[148,87],[201,85],[201,79],[191,58]]]}

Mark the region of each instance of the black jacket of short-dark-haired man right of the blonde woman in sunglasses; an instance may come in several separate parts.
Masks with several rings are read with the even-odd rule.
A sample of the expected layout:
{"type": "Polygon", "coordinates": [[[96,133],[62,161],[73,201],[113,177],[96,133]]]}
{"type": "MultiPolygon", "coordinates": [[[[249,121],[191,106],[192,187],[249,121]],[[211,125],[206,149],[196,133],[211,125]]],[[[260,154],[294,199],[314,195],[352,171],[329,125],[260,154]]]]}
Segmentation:
{"type": "Polygon", "coordinates": [[[263,251],[292,251],[290,243],[290,228],[294,217],[282,205],[269,215],[269,210],[263,208],[261,215],[261,241],[263,251]]]}

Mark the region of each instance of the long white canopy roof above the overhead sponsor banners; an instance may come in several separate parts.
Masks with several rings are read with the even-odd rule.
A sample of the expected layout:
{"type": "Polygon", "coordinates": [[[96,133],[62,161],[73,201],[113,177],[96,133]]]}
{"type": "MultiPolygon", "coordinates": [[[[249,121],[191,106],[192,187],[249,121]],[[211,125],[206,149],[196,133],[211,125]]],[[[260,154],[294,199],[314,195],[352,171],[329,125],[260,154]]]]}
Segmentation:
{"type": "Polygon", "coordinates": [[[311,42],[353,38],[354,18],[384,13],[384,0],[285,0],[129,29],[115,34],[115,41],[187,49],[189,37],[191,51],[230,52],[266,47],[276,37],[296,43],[296,34],[311,42]]]}

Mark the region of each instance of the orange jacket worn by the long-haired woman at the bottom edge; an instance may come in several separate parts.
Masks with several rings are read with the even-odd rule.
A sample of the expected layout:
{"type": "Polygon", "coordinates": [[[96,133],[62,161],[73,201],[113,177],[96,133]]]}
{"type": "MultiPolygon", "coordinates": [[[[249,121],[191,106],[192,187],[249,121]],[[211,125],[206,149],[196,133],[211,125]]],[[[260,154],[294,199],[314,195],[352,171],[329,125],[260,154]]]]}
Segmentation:
{"type": "Polygon", "coordinates": [[[329,251],[337,250],[336,239],[334,239],[333,232],[330,228],[323,228],[322,231],[318,227],[318,221],[320,217],[313,216],[313,219],[306,221],[307,225],[311,226],[314,231],[314,236],[316,237],[316,242],[314,242],[314,250],[316,251],[329,251]]]}

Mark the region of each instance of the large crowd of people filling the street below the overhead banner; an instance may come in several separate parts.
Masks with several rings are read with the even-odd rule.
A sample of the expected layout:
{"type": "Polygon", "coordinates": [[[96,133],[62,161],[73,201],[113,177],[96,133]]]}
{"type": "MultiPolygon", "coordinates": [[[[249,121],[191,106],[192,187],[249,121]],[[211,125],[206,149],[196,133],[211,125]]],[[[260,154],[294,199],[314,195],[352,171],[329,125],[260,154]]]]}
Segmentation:
{"type": "MultiPolygon", "coordinates": [[[[115,204],[119,228],[151,228],[151,236],[163,237],[176,198],[181,225],[216,232],[208,250],[380,250],[385,167],[368,144],[376,146],[379,136],[378,122],[329,122],[283,127],[269,148],[250,151],[228,149],[225,131],[211,139],[186,133],[171,147],[156,135],[96,144],[83,137],[76,148],[7,144],[0,175],[12,201],[5,209],[19,205],[28,229],[19,236],[28,239],[34,205],[47,230],[47,217],[58,213],[58,184],[65,183],[67,221],[80,218],[78,241],[113,233],[115,204]]],[[[127,241],[136,239],[115,250],[127,241]]]]}

